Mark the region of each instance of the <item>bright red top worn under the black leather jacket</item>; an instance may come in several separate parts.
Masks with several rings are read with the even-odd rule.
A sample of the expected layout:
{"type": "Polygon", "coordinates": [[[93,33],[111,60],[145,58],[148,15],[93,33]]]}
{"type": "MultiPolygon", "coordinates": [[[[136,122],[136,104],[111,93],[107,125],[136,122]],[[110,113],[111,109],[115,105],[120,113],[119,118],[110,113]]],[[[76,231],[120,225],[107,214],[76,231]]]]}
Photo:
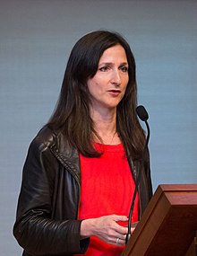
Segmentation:
{"type": "MultiPolygon", "coordinates": [[[[104,149],[99,158],[84,157],[81,161],[81,205],[79,218],[87,219],[107,215],[129,216],[135,184],[124,146],[96,144],[104,149]]],[[[138,221],[139,198],[135,200],[133,222],[138,221]]],[[[122,223],[127,225],[127,223],[122,223]]],[[[97,237],[90,238],[86,256],[119,256],[124,246],[104,243],[97,237]]]]}

